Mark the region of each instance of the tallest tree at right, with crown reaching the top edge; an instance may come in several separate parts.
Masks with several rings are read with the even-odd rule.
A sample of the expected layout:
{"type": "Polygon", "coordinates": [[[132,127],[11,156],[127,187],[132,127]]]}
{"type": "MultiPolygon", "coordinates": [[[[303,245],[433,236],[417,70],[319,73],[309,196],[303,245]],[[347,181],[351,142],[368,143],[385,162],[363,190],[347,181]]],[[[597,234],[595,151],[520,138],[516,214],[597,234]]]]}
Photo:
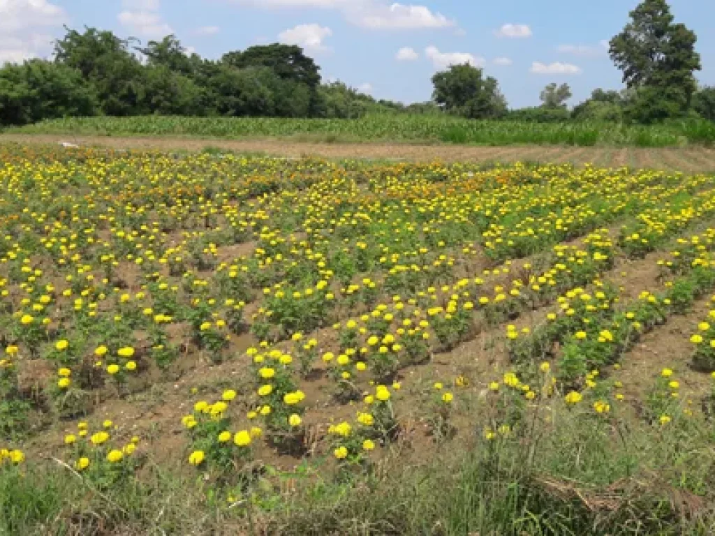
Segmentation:
{"type": "Polygon", "coordinates": [[[694,32],[674,22],[666,0],[644,0],[630,16],[608,49],[623,82],[636,90],[629,113],[640,121],[683,113],[697,87],[693,73],[701,69],[694,32]]]}

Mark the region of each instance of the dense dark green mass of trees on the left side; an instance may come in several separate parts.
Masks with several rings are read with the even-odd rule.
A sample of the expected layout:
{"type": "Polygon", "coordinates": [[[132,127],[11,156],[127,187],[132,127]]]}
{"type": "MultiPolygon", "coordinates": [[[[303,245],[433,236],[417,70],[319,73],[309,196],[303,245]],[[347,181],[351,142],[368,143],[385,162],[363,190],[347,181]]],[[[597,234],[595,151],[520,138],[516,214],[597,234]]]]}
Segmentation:
{"type": "Polygon", "coordinates": [[[300,47],[277,43],[212,61],[173,35],[141,46],[111,31],[66,29],[51,61],[0,69],[0,124],[98,114],[351,118],[402,108],[339,81],[322,84],[300,47]]]}

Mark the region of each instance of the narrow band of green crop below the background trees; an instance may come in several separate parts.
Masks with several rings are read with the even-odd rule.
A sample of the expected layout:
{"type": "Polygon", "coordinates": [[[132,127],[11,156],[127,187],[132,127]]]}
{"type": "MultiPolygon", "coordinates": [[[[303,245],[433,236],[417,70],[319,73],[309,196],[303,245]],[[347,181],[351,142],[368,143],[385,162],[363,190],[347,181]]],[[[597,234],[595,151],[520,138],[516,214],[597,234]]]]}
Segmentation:
{"type": "Polygon", "coordinates": [[[299,142],[420,142],[478,145],[566,144],[678,147],[713,144],[715,123],[671,121],[654,126],[589,122],[476,121],[453,116],[368,115],[361,119],[277,119],[183,116],[80,117],[6,129],[33,134],[182,136],[224,139],[282,137],[299,142]]]}

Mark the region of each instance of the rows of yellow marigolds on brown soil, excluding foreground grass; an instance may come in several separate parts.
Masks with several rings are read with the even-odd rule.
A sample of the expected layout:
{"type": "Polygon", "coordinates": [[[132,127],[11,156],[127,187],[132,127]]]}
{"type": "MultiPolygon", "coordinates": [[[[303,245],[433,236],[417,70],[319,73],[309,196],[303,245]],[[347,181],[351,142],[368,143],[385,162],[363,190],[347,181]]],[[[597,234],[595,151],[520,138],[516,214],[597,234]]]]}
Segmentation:
{"type": "Polygon", "coordinates": [[[245,515],[296,465],[374,477],[557,407],[596,435],[713,407],[712,177],[0,154],[0,472],[50,456],[103,492],[178,464],[245,515]]]}

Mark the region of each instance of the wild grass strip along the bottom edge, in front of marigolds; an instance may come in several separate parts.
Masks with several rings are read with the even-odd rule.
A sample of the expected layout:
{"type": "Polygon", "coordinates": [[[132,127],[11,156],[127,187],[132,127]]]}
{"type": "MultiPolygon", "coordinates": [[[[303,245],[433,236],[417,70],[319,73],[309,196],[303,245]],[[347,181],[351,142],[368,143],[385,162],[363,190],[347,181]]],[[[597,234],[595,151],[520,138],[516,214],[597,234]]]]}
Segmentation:
{"type": "Polygon", "coordinates": [[[0,534],[713,533],[711,423],[543,410],[552,424],[535,421],[518,440],[445,442],[423,465],[398,455],[384,471],[340,479],[299,470],[294,493],[258,485],[234,507],[195,475],[150,460],[141,479],[104,490],[52,460],[11,467],[0,470],[0,534]]]}

